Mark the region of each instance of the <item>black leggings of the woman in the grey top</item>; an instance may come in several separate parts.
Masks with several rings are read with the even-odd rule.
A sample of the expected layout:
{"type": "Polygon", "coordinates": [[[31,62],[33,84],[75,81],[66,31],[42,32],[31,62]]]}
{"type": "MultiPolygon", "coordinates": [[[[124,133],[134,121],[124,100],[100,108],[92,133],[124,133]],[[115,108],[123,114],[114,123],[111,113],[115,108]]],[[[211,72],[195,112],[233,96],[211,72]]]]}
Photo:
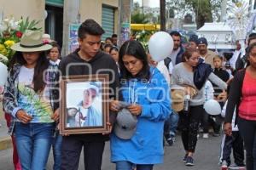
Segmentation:
{"type": "Polygon", "coordinates": [[[203,116],[203,106],[195,105],[189,107],[189,112],[180,113],[180,127],[184,150],[195,152],[199,123],[203,116]]]}

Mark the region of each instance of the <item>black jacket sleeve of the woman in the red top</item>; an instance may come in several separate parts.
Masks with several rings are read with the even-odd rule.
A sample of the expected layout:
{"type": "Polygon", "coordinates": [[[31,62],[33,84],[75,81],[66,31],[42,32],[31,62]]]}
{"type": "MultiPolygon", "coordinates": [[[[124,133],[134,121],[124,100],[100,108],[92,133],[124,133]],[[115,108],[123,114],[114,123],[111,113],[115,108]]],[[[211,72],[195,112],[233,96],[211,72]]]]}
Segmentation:
{"type": "Polygon", "coordinates": [[[236,108],[236,117],[238,116],[238,108],[241,103],[241,88],[245,77],[246,69],[237,71],[233,81],[230,84],[228,104],[226,108],[226,116],[224,122],[232,122],[232,117],[236,108]]]}

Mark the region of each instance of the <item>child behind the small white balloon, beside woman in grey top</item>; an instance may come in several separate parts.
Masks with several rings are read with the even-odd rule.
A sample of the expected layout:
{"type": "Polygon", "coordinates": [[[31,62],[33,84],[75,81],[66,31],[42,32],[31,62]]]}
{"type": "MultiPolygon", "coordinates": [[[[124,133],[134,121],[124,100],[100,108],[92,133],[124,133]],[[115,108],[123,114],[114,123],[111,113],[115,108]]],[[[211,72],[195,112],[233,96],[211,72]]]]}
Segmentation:
{"type": "MultiPolygon", "coordinates": [[[[220,55],[216,55],[213,58],[213,65],[214,65],[214,70],[213,73],[218,76],[221,80],[224,82],[228,82],[230,80],[230,74],[222,69],[223,65],[223,57],[220,55]]],[[[221,107],[224,106],[224,101],[221,98],[222,94],[225,93],[223,90],[219,89],[214,83],[212,83],[213,88],[214,88],[214,99],[218,100],[218,103],[221,107]]],[[[223,122],[223,118],[221,115],[217,116],[210,116],[210,122],[212,122],[212,127],[213,127],[213,136],[218,137],[220,135],[220,127],[223,122]]]]}

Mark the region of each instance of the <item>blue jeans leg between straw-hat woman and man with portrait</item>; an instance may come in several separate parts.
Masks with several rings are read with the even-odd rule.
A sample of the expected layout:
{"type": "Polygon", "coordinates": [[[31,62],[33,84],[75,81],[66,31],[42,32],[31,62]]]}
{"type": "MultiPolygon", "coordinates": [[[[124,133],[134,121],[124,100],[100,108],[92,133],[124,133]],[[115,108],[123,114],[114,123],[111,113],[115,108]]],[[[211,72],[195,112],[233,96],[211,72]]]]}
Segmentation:
{"type": "Polygon", "coordinates": [[[53,156],[54,156],[54,170],[61,170],[61,143],[62,136],[59,130],[55,131],[55,138],[52,145],[53,156]]]}

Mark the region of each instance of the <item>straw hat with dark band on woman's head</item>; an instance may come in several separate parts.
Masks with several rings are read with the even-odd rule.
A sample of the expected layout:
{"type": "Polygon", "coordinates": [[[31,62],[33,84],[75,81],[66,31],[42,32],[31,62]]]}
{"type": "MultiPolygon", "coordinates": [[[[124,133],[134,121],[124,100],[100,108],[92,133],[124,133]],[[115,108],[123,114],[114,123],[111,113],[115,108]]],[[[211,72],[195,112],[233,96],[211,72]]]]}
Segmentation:
{"type": "Polygon", "coordinates": [[[27,30],[22,35],[20,42],[15,43],[11,48],[20,52],[36,52],[49,50],[52,46],[43,43],[41,31],[27,30]]]}

